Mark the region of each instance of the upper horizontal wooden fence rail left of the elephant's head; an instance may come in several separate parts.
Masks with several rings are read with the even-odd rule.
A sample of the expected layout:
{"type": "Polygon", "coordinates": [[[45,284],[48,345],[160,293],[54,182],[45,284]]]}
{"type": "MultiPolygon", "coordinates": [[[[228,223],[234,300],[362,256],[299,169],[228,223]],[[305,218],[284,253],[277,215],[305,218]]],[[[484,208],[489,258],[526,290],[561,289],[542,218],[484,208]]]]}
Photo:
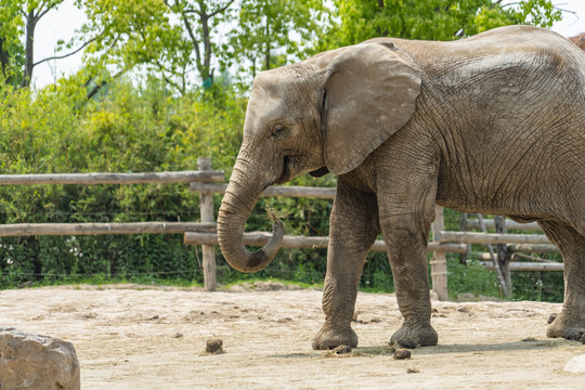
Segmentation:
{"type": "Polygon", "coordinates": [[[223,182],[224,171],[0,174],[0,185],[223,182]]]}

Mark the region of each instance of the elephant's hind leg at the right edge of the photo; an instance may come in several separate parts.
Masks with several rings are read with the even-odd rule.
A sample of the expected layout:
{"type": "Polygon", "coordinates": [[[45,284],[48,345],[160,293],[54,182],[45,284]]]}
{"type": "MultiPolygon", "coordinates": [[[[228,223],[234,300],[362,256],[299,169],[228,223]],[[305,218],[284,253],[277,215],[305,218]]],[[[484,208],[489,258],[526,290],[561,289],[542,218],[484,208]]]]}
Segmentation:
{"type": "Polygon", "coordinates": [[[585,236],[556,221],[540,221],[547,237],[559,247],[564,262],[562,311],[550,324],[548,337],[581,338],[585,333],[585,236]]]}

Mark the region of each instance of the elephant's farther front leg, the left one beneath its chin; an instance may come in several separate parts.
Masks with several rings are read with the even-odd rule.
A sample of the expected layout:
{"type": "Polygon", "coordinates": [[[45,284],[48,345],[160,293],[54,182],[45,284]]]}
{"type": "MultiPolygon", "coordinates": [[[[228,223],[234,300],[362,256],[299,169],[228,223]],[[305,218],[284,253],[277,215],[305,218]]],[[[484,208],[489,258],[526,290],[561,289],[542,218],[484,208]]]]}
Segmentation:
{"type": "Polygon", "coordinates": [[[375,194],[352,191],[339,178],[323,290],[325,324],[313,340],[313,349],[358,346],[351,320],[364,261],[378,231],[375,194]]]}

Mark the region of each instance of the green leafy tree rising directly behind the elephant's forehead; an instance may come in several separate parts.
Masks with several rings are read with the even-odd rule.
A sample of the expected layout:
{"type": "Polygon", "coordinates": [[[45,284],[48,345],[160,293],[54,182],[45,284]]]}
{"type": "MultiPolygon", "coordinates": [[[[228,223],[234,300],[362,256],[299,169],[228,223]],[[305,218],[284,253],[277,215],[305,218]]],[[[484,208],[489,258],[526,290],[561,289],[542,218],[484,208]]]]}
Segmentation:
{"type": "MultiPolygon", "coordinates": [[[[247,0],[232,30],[233,62],[250,63],[253,77],[260,67],[270,69],[303,58],[321,32],[327,10],[321,0],[247,0]]],[[[226,48],[227,49],[227,48],[226,48]]]]}

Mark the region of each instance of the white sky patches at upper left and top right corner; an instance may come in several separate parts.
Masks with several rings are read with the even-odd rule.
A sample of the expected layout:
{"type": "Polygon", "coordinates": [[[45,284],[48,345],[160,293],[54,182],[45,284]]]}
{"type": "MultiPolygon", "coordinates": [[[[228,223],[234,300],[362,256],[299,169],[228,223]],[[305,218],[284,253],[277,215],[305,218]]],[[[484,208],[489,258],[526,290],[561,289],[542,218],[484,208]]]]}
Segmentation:
{"type": "MultiPolygon", "coordinates": [[[[576,15],[563,13],[563,20],[552,26],[552,30],[564,37],[574,37],[585,32],[585,0],[555,0],[555,5],[562,10],[576,12],[576,15]]],[[[35,60],[54,55],[53,48],[60,39],[67,41],[84,22],[84,15],[65,1],[57,11],[48,13],[37,25],[35,60]]],[[[56,81],[63,75],[72,75],[81,66],[81,53],[70,57],[49,61],[35,67],[32,82],[43,87],[56,81]]]]}

